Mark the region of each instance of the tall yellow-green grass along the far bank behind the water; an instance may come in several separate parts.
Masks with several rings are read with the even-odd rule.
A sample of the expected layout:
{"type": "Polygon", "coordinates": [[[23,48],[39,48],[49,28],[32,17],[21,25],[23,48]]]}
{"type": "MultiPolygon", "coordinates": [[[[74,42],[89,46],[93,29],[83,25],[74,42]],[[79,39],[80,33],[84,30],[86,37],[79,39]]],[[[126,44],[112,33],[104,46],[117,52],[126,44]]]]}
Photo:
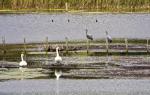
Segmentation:
{"type": "Polygon", "coordinates": [[[0,0],[0,9],[65,9],[93,11],[149,11],[150,0],[0,0]]]}

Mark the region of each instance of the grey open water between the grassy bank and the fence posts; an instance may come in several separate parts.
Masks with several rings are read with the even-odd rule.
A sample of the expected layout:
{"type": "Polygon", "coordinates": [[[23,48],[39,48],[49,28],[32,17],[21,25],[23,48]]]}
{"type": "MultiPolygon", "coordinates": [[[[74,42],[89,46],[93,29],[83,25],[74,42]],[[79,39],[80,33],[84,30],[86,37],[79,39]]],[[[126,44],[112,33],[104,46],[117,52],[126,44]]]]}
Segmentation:
{"type": "Polygon", "coordinates": [[[0,15],[0,36],[5,36],[7,43],[23,42],[24,37],[27,42],[41,42],[47,36],[49,41],[85,39],[86,28],[95,39],[104,38],[106,30],[113,38],[147,38],[149,26],[150,14],[0,15]]]}

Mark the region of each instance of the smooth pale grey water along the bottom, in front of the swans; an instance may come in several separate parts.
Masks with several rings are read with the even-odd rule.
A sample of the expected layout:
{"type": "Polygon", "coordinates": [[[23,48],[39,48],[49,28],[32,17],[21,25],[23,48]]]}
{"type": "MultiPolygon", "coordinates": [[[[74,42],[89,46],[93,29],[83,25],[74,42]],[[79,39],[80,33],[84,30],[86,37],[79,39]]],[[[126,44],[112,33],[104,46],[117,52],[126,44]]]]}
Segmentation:
{"type": "Polygon", "coordinates": [[[150,80],[12,80],[0,82],[1,95],[149,95],[150,80]]]}

